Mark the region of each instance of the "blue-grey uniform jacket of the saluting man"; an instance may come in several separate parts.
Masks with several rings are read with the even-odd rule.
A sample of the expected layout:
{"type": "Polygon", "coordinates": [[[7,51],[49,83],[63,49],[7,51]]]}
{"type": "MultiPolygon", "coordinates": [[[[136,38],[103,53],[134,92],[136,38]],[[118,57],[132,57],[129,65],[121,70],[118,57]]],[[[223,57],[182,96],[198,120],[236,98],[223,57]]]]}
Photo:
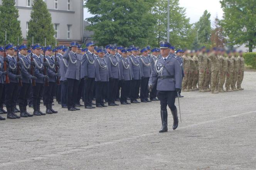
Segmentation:
{"type": "Polygon", "coordinates": [[[63,58],[65,58],[69,65],[67,67],[67,72],[65,78],[71,79],[80,79],[80,65],[81,65],[81,57],[76,53],[73,53],[69,49],[64,53],[63,58]]]}

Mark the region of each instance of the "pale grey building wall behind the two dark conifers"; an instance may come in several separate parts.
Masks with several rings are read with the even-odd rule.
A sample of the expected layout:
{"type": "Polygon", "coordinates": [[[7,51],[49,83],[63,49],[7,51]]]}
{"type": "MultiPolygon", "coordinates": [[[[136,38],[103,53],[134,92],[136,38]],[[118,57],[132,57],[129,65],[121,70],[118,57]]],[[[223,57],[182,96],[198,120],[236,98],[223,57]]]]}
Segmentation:
{"type": "MultiPolygon", "coordinates": [[[[27,6],[27,0],[16,0],[16,8],[19,10],[20,27],[25,41],[27,38],[27,22],[30,20],[31,7],[27,6]]],[[[60,44],[68,44],[71,41],[83,41],[83,1],[70,0],[70,10],[67,9],[68,0],[57,0],[57,9],[55,9],[55,0],[44,0],[47,8],[52,15],[52,23],[58,24],[57,40],[60,44]],[[71,25],[70,38],[67,38],[67,25],[71,25]]],[[[0,0],[2,5],[2,0],[0,0]]]]}

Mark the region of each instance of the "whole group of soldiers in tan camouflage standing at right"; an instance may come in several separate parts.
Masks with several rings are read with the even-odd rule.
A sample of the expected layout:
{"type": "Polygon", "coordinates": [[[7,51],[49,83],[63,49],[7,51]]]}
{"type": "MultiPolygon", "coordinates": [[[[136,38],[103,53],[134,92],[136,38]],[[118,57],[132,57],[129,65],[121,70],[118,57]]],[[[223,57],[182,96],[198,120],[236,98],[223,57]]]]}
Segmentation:
{"type": "Polygon", "coordinates": [[[244,77],[243,52],[212,48],[207,50],[182,51],[184,78],[182,91],[232,92],[243,90],[244,77]],[[224,85],[225,89],[224,90],[224,85]]]}

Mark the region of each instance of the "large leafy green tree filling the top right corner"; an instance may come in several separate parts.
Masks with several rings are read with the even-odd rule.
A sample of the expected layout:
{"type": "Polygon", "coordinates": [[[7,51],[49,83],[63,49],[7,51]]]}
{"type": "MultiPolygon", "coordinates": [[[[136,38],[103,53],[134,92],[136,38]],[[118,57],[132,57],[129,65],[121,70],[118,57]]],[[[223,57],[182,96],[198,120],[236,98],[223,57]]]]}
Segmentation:
{"type": "Polygon", "coordinates": [[[228,37],[228,45],[249,47],[249,52],[256,47],[256,1],[221,0],[224,11],[221,25],[228,37]]]}

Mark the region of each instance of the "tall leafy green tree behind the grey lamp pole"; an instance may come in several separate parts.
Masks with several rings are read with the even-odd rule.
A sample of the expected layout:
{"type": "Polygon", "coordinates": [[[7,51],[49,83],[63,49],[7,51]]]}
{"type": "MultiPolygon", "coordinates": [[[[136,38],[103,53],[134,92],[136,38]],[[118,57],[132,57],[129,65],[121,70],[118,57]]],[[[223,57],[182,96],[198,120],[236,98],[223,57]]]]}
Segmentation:
{"type": "MultiPolygon", "coordinates": [[[[157,19],[155,44],[167,40],[167,0],[157,0],[152,13],[157,19]]],[[[190,48],[195,38],[189,18],[185,16],[186,9],[179,6],[179,0],[170,0],[170,43],[177,48],[190,48]]]]}

